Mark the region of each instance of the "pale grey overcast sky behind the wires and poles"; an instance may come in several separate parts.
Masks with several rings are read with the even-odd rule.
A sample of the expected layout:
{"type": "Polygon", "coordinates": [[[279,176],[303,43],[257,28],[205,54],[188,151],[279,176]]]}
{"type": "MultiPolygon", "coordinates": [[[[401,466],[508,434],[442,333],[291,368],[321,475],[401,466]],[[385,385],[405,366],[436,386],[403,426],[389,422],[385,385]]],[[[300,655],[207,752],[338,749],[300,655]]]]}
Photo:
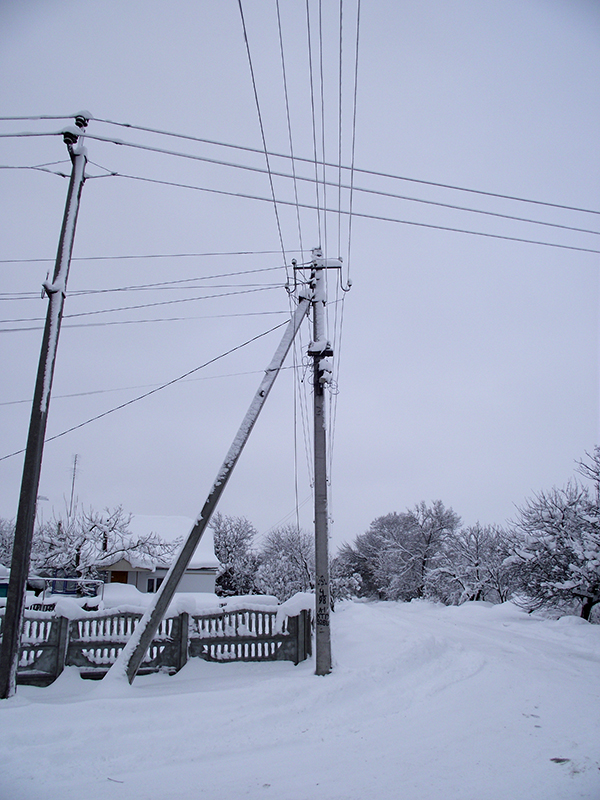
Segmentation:
{"type": "MultiPolygon", "coordinates": [[[[319,20],[310,0],[310,51],[306,5],[279,6],[292,144],[309,160],[294,168],[314,179],[315,142],[319,157],[324,142],[326,161],[338,162],[340,118],[342,163],[352,161],[356,0],[343,2],[341,114],[339,3],[323,3],[319,20]]],[[[244,0],[242,9],[267,149],[289,154],[277,5],[244,0]]],[[[91,136],[265,168],[260,152],[98,121],[260,151],[235,0],[5,0],[0,73],[3,116],[86,109],[95,118],[91,136]]],[[[363,2],[354,164],[414,180],[356,171],[355,187],[372,191],[353,194],[350,238],[347,213],[302,207],[297,215],[293,182],[275,176],[283,252],[263,171],[90,138],[94,163],[82,194],[48,436],[284,322],[284,263],[308,260],[320,244],[327,256],[342,256],[343,281],[353,283],[343,295],[329,276],[334,544],[421,500],[441,499],[468,524],[503,524],[532,492],[565,483],[576,459],[600,441],[599,262],[597,252],[585,252],[600,250],[600,238],[567,229],[600,231],[599,76],[600,6],[593,0],[363,2]],[[231,194],[92,179],[109,172],[231,194]],[[237,252],[246,255],[173,257],[237,252]],[[171,257],[116,258],[140,255],[171,257]],[[88,260],[100,256],[111,258],[88,260]],[[176,281],[186,283],[125,291],[176,281]],[[174,300],[184,302],[148,307],[174,300]]],[[[51,133],[66,124],[3,121],[0,133],[51,133]]],[[[50,169],[69,172],[66,159],[60,136],[0,138],[2,166],[62,161],[50,169]]],[[[289,159],[271,158],[270,166],[292,173],[289,159]]],[[[326,177],[335,184],[338,171],[326,177]]],[[[349,171],[342,177],[348,184],[349,171]]],[[[53,268],[67,180],[3,169],[0,181],[0,315],[19,320],[0,324],[3,456],[25,446],[47,303],[40,287],[53,268]]],[[[349,210],[348,190],[320,186],[317,194],[310,180],[299,183],[302,206],[314,207],[317,197],[349,210]]],[[[281,333],[48,442],[39,513],[63,510],[77,454],[75,493],[86,507],[195,516],[281,333]]],[[[296,497],[301,524],[312,526],[303,366],[309,338],[307,323],[220,507],[248,517],[261,533],[295,522],[296,497]]],[[[0,461],[1,516],[16,514],[22,459],[0,461]]]]}

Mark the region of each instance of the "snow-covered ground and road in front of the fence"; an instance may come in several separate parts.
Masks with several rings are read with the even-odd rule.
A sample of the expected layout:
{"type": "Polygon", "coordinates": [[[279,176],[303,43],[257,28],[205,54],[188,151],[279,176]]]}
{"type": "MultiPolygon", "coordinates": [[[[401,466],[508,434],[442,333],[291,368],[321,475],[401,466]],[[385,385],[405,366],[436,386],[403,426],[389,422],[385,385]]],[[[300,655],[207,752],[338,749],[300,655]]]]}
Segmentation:
{"type": "Polygon", "coordinates": [[[600,626],[344,603],[335,671],[210,664],[0,702],[10,800],[600,798],[600,626]]]}

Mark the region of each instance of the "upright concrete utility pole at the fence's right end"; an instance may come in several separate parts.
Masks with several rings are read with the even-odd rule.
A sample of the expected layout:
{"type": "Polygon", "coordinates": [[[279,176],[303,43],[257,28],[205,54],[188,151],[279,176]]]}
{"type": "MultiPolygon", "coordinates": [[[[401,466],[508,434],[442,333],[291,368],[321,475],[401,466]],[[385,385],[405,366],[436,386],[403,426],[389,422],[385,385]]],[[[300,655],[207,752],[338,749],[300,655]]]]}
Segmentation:
{"type": "Polygon", "coordinates": [[[315,459],[315,603],[317,675],[331,672],[331,634],[329,615],[329,531],[327,512],[327,425],[325,387],[331,381],[333,350],[325,331],[327,292],[325,270],[340,269],[340,259],[325,259],[320,248],[313,250],[311,287],[313,289],[313,341],[308,354],[313,358],[314,459],[315,459]]]}

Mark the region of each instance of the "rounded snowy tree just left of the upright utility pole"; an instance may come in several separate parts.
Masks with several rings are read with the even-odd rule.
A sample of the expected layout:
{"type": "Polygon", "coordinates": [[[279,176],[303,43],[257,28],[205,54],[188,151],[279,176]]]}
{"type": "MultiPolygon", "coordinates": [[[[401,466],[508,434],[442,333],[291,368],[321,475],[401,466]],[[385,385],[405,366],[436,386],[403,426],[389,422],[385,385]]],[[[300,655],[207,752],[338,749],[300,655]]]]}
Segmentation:
{"type": "Polygon", "coordinates": [[[284,601],[296,592],[315,586],[315,556],[312,536],[293,525],[275,528],[263,541],[256,587],[284,601]]]}

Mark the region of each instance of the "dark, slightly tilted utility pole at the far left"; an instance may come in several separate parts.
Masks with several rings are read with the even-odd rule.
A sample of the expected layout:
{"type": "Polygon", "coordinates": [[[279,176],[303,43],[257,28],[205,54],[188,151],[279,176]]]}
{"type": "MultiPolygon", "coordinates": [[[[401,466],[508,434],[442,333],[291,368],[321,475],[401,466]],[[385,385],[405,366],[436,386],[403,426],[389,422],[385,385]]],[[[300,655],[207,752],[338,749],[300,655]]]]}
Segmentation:
{"type": "Polygon", "coordinates": [[[25,450],[21,494],[15,527],[15,542],[6,599],[2,647],[0,649],[0,698],[2,699],[11,697],[16,691],[25,590],[31,560],[31,543],[35,524],[50,392],[67,290],[67,278],[71,264],[71,253],[73,251],[75,225],[79,211],[81,189],[85,181],[87,158],[85,148],[82,147],[80,142],[80,136],[84,132],[87,123],[87,117],[80,114],[75,117],[77,127],[65,130],[63,133],[73,168],[58,243],[54,276],[52,283],[48,281],[44,283],[44,289],[48,296],[48,311],[25,450]]]}

